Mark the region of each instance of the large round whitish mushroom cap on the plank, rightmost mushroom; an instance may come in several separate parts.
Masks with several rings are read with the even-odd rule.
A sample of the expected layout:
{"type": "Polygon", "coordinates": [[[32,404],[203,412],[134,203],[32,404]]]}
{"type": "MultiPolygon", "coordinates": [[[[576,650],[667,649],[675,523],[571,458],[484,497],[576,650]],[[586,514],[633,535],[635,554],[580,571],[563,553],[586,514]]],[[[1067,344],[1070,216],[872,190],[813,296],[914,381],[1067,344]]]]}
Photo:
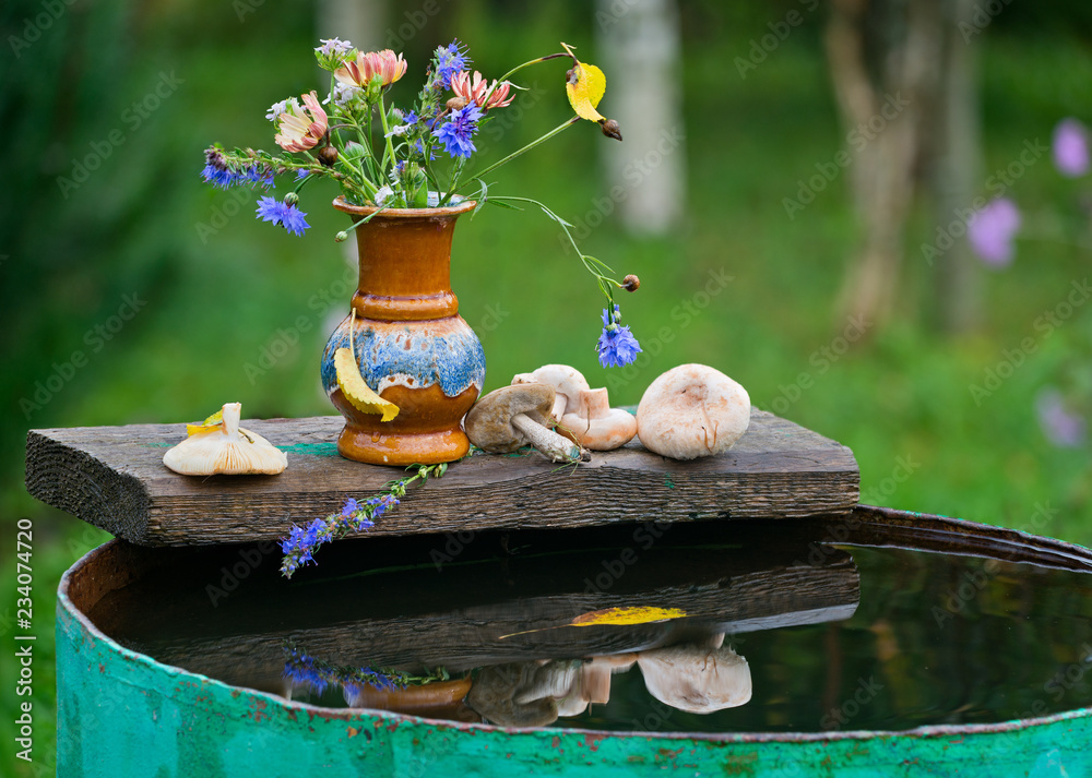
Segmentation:
{"type": "Polygon", "coordinates": [[[750,424],[747,390],[705,364],[680,364],[657,378],[637,407],[637,433],[649,451],[673,459],[720,454],[750,424]]]}

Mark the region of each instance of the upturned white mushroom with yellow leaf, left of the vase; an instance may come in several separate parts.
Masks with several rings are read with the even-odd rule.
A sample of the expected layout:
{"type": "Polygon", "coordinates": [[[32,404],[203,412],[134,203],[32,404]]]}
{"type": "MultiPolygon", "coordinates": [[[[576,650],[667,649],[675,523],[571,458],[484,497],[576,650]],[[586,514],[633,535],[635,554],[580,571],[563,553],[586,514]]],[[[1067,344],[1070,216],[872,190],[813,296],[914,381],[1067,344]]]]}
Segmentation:
{"type": "Polygon", "coordinates": [[[224,406],[223,420],[190,428],[190,436],[163,455],[163,464],[183,476],[275,476],[288,456],[261,435],[239,427],[241,403],[224,406]]]}

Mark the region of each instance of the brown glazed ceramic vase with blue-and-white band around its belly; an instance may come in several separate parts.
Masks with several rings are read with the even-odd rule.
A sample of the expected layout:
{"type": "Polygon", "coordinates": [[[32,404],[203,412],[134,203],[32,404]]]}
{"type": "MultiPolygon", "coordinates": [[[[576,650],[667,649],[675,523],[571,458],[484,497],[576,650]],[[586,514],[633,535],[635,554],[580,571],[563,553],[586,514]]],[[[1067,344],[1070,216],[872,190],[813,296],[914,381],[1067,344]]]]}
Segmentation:
{"type": "MultiPolygon", "coordinates": [[[[354,222],[375,207],[334,207],[354,222]]],[[[322,355],[322,385],[345,417],[342,456],[375,465],[431,465],[466,454],[460,422],[485,381],[485,354],[451,294],[451,237],[473,202],[390,208],[356,229],[360,280],[353,296],[356,359],[368,385],[399,406],[391,421],[354,408],[337,386],[334,351],[348,347],[349,316],[322,355]]]]}

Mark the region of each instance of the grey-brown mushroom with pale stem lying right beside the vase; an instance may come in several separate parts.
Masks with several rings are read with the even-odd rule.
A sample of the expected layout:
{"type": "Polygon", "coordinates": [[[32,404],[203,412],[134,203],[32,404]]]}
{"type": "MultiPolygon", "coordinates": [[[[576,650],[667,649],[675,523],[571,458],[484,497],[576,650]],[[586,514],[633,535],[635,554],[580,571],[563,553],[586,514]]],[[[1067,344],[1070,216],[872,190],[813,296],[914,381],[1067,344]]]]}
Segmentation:
{"type": "Polygon", "coordinates": [[[546,384],[501,386],[471,408],[464,422],[466,436],[498,454],[530,443],[554,462],[577,462],[584,454],[580,446],[546,427],[554,398],[554,388],[546,384]]]}

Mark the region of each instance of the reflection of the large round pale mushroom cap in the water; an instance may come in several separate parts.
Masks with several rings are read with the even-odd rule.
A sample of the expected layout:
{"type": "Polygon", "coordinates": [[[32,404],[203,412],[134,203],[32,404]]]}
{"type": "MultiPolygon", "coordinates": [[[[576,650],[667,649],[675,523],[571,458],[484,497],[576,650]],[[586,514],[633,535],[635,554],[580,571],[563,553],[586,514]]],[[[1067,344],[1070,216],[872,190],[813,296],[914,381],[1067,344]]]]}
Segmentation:
{"type": "Polygon", "coordinates": [[[751,697],[750,667],[731,648],[670,646],[641,651],[637,663],[649,693],[673,708],[711,714],[751,697]]]}

